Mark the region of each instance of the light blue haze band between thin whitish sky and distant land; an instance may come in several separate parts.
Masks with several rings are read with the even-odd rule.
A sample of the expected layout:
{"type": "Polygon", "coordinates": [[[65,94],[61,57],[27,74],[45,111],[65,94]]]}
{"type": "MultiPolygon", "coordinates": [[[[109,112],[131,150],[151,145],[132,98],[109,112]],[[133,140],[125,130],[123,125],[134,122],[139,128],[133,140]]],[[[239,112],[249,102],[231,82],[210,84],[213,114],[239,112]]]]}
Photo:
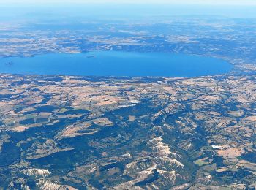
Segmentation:
{"type": "MultiPolygon", "coordinates": [[[[1,20],[22,19],[23,17],[31,19],[28,15],[40,15],[40,18],[48,18],[48,15],[63,15],[65,17],[78,16],[80,18],[140,18],[159,17],[159,16],[188,16],[188,15],[218,15],[228,18],[256,18],[254,6],[209,6],[202,4],[184,5],[184,4],[12,4],[0,6],[1,20]],[[68,7],[68,8],[67,8],[68,7]],[[44,17],[45,15],[45,17],[44,17]]],[[[34,18],[34,17],[32,17],[34,18]]]]}

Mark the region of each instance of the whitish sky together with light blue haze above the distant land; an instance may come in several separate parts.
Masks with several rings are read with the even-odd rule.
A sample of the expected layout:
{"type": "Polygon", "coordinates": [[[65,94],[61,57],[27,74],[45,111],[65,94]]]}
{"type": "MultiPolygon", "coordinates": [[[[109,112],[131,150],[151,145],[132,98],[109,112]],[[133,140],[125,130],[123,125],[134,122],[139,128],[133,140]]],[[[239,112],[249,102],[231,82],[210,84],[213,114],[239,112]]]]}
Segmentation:
{"type": "Polygon", "coordinates": [[[0,20],[48,19],[48,15],[59,18],[118,18],[140,19],[161,16],[218,15],[229,18],[256,18],[256,2],[252,0],[142,0],[142,1],[59,1],[31,0],[0,1],[0,20]],[[199,4],[199,5],[198,5],[199,4]],[[228,5],[228,6],[227,6],[228,5]],[[31,8],[33,7],[33,8],[31,8]],[[68,7],[68,8],[67,8],[68,7]],[[31,17],[33,15],[33,17],[31,17]]]}

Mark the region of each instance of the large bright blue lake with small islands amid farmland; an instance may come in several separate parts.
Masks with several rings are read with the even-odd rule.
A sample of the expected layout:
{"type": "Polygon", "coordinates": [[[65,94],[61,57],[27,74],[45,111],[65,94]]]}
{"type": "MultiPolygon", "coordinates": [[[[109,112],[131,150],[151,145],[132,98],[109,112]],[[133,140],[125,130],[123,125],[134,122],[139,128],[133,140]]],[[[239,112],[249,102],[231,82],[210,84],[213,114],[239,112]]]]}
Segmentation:
{"type": "Polygon", "coordinates": [[[0,58],[0,72],[10,74],[197,77],[231,69],[222,59],[170,53],[96,51],[0,58]]]}

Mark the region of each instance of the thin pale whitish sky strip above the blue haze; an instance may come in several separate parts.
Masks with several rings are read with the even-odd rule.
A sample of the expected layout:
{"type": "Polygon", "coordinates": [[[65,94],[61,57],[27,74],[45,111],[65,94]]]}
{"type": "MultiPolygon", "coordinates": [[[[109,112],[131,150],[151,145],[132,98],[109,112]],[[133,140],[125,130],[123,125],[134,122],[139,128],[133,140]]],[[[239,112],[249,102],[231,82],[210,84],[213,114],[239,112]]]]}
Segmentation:
{"type": "Polygon", "coordinates": [[[256,5],[256,0],[0,0],[0,4],[214,4],[256,5]]]}

